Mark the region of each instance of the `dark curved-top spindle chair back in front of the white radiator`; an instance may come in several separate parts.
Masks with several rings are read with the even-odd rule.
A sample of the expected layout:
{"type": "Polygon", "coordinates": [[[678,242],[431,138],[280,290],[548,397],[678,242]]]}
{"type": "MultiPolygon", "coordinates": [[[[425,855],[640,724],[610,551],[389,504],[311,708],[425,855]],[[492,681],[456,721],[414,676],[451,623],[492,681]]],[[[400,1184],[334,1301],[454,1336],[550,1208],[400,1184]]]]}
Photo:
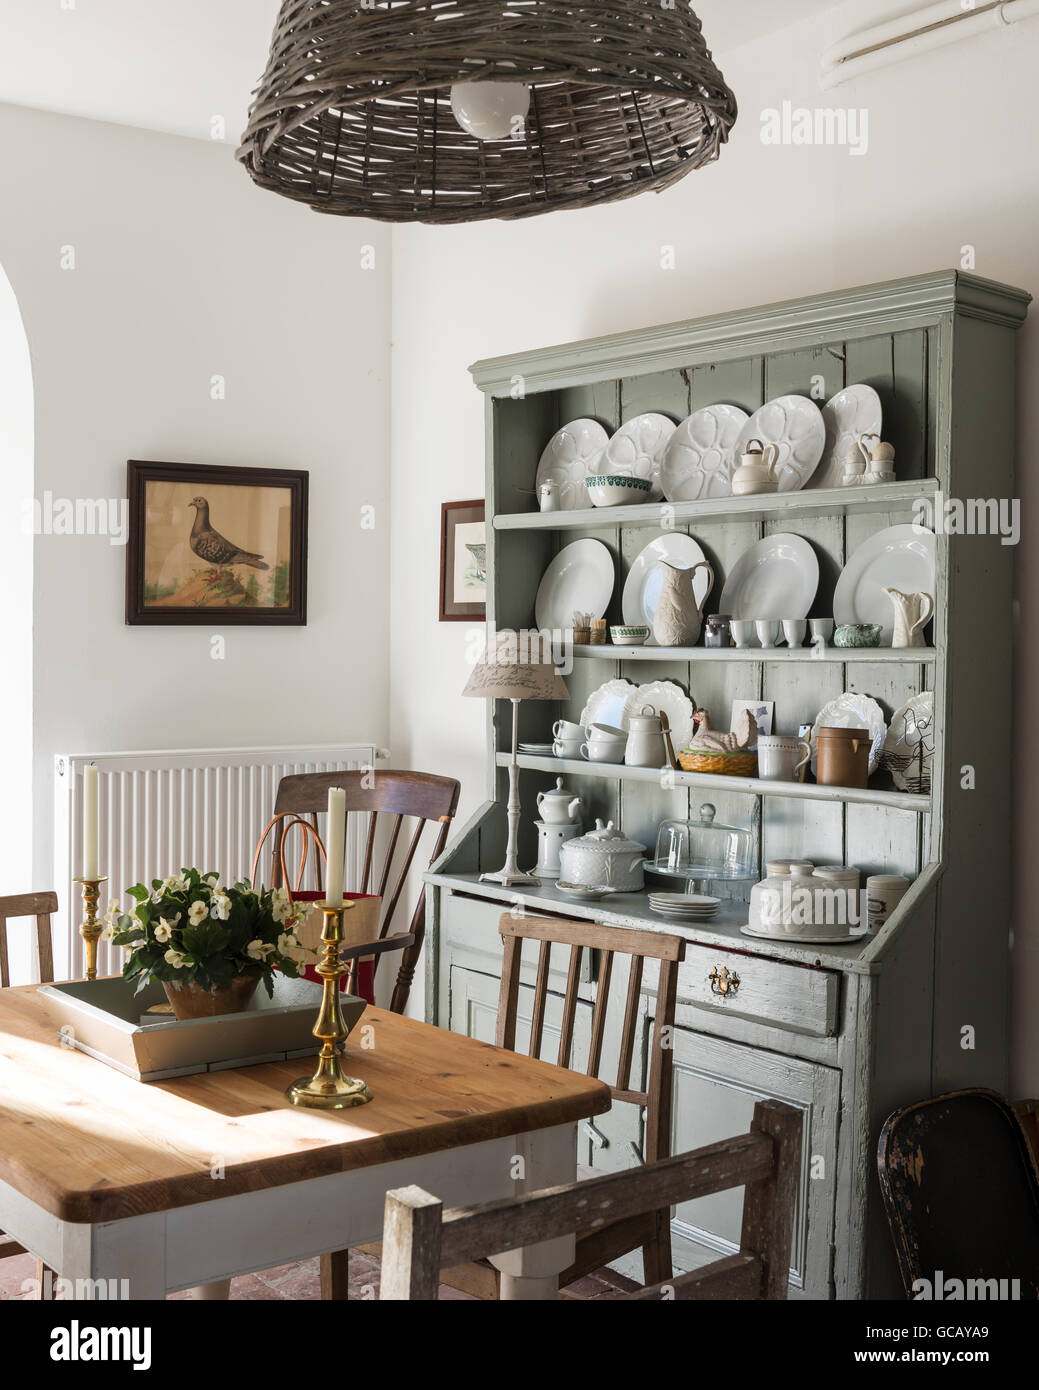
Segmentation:
{"type": "MultiPolygon", "coordinates": [[[[437,827],[433,837],[433,852],[427,863],[433,863],[444,851],[458,809],[459,783],[453,777],[398,770],[299,773],[293,777],[282,777],[274,799],[273,859],[271,873],[267,878],[270,887],[284,887],[282,841],[292,817],[307,819],[314,830],[320,830],[319,815],[328,806],[330,787],[342,787],[346,792],[348,821],[351,816],[367,816],[367,827],[363,831],[364,863],[360,881],[346,883],[345,887],[349,892],[376,892],[382,898],[378,940],[384,941],[391,927],[395,926],[408,874],[427,826],[437,827]],[[385,821],[380,821],[380,816],[385,817],[385,821]],[[406,821],[408,827],[405,828],[406,821]],[[381,852],[381,866],[377,869],[377,833],[381,824],[387,824],[388,830],[385,848],[381,852]],[[394,870],[396,870],[395,874],[394,870]],[[392,887],[391,874],[394,876],[392,887]]],[[[268,828],[271,827],[268,826],[268,828]]],[[[267,831],[264,831],[266,834],[267,831]]],[[[320,859],[316,860],[316,876],[314,887],[320,890],[323,888],[320,859]]],[[[401,933],[401,940],[406,945],[401,951],[401,965],[389,999],[392,1013],[403,1013],[408,1006],[424,937],[426,894],[420,891],[410,926],[406,933],[401,933]]]]}

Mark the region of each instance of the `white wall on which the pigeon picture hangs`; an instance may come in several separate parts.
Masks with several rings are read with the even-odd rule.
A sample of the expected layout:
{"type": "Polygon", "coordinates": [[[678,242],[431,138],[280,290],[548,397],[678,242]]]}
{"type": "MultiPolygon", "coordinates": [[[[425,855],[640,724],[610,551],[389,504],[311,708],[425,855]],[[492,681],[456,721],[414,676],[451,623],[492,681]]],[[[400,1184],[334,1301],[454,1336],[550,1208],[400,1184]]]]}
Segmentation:
{"type": "Polygon", "coordinates": [[[227,146],[127,126],[0,107],[0,188],[38,495],[121,498],[127,459],[310,471],[306,627],[129,628],[121,548],[36,539],[35,867],[6,892],[49,887],[56,752],[388,741],[389,261],[381,229],[260,192],[227,146]]]}

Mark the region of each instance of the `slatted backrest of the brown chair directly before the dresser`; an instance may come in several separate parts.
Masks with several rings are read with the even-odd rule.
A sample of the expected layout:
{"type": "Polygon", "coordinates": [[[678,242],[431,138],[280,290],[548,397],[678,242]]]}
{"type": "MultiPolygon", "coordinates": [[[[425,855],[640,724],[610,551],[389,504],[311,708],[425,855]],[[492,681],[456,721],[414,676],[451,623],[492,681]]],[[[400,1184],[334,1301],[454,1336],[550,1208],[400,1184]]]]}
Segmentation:
{"type": "Polygon", "coordinates": [[[570,1066],[573,1055],[574,1019],[581,977],[581,952],[598,951],[598,990],[591,1016],[588,1047],[588,1076],[598,1076],[602,1063],[602,1044],[609,1009],[613,956],[630,956],[625,1017],[620,1029],[620,1059],[615,1080],[609,1083],[615,1101],[631,1101],[647,1109],[645,1161],[652,1163],[670,1154],[670,1095],[672,1095],[672,1038],[675,1027],[679,963],[686,956],[686,942],[663,931],[636,931],[627,927],[604,927],[594,922],[570,922],[562,917],[520,917],[504,913],[498,931],[505,945],[502,981],[498,995],[498,1047],[516,1051],[516,1019],[519,1015],[520,959],[524,941],[540,941],[537,976],[534,980],[533,1017],[530,1026],[530,1056],[540,1056],[548,999],[548,972],[552,945],[569,945],[566,995],[559,1036],[558,1066],[570,1066]],[[638,1004],[643,987],[643,967],[647,960],[659,962],[657,983],[657,1011],[650,1054],[648,1086],[631,1088],[631,1062],[638,1031],[638,1004]]]}

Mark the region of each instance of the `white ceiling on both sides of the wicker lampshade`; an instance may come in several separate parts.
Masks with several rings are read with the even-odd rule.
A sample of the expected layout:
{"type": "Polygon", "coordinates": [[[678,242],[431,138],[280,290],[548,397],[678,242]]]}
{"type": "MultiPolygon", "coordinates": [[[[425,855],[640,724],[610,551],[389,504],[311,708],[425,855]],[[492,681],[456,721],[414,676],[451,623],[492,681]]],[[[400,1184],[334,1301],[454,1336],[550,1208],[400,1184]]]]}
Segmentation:
{"type": "MultiPolygon", "coordinates": [[[[718,65],[833,0],[700,0],[718,65]]],[[[238,142],[278,0],[0,0],[0,101],[238,142]],[[64,8],[68,6],[68,8],[64,8]]]]}

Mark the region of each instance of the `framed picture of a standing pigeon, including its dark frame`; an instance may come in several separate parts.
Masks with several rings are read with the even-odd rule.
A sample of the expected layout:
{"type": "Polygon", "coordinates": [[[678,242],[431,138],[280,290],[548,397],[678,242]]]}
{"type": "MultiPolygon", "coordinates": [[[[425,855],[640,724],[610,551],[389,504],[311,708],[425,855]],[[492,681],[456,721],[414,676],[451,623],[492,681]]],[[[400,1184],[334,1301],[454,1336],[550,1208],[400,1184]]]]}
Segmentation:
{"type": "Polygon", "coordinates": [[[127,623],[306,623],[309,474],[127,464],[127,623]]]}

